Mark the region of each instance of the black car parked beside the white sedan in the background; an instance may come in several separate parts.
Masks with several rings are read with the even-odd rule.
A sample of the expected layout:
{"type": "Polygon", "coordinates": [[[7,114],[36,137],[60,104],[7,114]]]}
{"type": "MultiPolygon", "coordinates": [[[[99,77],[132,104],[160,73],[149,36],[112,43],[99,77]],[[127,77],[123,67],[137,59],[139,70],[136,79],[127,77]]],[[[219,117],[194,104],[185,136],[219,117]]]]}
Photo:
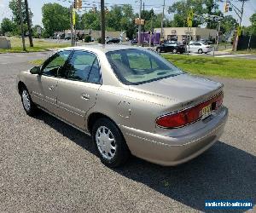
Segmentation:
{"type": "Polygon", "coordinates": [[[176,53],[180,53],[183,54],[186,49],[185,46],[182,43],[178,43],[176,41],[170,41],[170,42],[166,42],[161,44],[160,46],[158,46],[156,48],[157,52],[172,52],[174,54],[176,53]]]}

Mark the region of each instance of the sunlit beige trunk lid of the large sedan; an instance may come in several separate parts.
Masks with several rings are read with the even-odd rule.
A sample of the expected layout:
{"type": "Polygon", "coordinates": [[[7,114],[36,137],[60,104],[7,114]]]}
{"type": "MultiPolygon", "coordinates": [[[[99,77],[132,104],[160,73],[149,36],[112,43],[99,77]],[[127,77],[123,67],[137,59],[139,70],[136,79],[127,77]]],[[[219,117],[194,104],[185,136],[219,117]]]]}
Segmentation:
{"type": "Polygon", "coordinates": [[[212,98],[214,95],[218,95],[222,91],[222,87],[222,83],[214,82],[207,78],[180,74],[150,83],[131,85],[130,89],[162,97],[170,100],[170,104],[171,101],[172,104],[176,103],[177,108],[183,108],[193,106],[212,98]]]}

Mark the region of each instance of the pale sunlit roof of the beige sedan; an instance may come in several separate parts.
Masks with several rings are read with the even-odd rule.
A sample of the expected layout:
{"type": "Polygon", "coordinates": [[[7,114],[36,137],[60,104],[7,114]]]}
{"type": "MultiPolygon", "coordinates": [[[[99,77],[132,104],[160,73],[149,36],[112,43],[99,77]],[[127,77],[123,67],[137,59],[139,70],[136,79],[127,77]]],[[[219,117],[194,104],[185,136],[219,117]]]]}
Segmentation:
{"type": "MultiPolygon", "coordinates": [[[[65,50],[88,50],[92,52],[103,52],[107,53],[109,51],[115,51],[115,50],[121,50],[121,49],[142,49],[141,47],[134,47],[134,46],[128,46],[128,45],[114,45],[114,44],[92,44],[92,45],[86,45],[86,46],[76,46],[76,47],[69,47],[65,48],[65,50]]],[[[64,49],[61,49],[64,50],[64,49]]]]}

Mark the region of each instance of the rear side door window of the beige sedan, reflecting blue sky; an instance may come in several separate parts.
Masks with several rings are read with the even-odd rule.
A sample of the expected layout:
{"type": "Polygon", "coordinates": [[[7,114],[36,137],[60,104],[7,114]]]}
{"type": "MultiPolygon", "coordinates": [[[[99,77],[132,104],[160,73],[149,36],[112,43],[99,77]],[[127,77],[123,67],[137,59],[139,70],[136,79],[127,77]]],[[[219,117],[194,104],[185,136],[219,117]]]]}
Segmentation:
{"type": "Polygon", "coordinates": [[[100,67],[96,55],[85,51],[75,51],[66,69],[68,79],[100,83],[100,67]]]}

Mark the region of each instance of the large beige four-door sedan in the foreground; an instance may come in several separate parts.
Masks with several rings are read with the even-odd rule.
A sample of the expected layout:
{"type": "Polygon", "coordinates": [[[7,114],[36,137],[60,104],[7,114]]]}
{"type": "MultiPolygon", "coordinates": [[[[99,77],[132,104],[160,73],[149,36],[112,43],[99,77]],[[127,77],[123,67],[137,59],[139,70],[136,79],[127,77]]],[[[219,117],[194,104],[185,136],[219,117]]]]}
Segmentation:
{"type": "Polygon", "coordinates": [[[183,164],[218,141],[228,117],[222,83],[131,46],[61,49],[42,66],[20,72],[17,89],[28,115],[40,108],[91,135],[111,167],[130,154],[183,164]]]}

